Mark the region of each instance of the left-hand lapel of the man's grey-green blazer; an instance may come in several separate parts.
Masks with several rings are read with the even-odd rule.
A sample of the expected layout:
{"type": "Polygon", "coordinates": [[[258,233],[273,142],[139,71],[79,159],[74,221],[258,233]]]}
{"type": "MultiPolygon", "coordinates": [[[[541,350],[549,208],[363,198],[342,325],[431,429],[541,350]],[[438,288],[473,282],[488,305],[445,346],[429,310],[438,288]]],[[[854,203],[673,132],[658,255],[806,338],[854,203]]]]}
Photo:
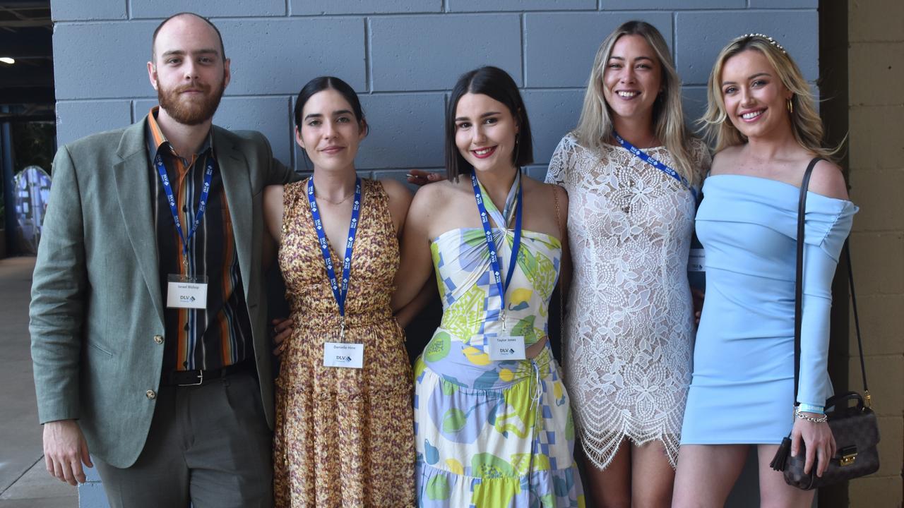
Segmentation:
{"type": "Polygon", "coordinates": [[[157,242],[151,213],[151,186],[147,177],[147,165],[150,163],[145,148],[145,122],[137,122],[123,134],[117,151],[122,160],[113,166],[113,176],[119,211],[135,251],[137,268],[145,278],[160,323],[164,323],[157,242]]]}

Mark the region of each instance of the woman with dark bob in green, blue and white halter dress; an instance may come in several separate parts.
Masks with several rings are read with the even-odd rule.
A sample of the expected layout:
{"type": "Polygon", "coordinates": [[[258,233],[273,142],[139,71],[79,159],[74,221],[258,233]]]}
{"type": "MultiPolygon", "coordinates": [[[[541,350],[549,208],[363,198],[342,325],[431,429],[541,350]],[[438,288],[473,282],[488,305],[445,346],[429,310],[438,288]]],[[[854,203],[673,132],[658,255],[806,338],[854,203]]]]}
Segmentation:
{"type": "Polygon", "coordinates": [[[442,323],[414,372],[419,505],[583,506],[547,341],[567,197],[521,175],[531,129],[504,71],[462,76],[446,117],[448,180],[411,204],[393,297],[393,307],[409,302],[436,268],[442,323]],[[491,359],[519,349],[521,360],[491,359]]]}

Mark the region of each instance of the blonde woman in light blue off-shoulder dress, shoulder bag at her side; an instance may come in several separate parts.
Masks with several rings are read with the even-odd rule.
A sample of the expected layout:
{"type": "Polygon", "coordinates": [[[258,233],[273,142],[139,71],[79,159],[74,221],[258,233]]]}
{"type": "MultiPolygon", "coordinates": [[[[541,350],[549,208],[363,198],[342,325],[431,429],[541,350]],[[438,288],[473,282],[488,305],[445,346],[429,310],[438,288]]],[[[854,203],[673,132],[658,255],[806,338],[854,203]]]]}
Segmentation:
{"type": "Polygon", "coordinates": [[[824,403],[832,279],[857,207],[841,169],[815,165],[806,196],[801,371],[794,400],[796,223],[799,185],[822,146],[815,102],[796,64],[773,39],[752,34],[717,58],[704,116],[717,155],[703,184],[697,234],[707,294],[673,506],[723,506],[752,445],[763,506],[809,506],[812,491],[769,468],[782,438],[805,444],[808,471],[834,455],[824,403]],[[797,405],[797,406],[796,406],[797,405]]]}

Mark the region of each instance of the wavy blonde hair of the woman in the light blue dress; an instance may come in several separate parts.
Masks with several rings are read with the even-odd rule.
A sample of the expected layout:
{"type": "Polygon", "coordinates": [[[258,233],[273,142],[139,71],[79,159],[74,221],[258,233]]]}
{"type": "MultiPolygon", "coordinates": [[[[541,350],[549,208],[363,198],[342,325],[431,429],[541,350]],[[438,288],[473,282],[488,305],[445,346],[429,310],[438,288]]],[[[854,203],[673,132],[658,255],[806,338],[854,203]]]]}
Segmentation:
{"type": "Polygon", "coordinates": [[[716,151],[728,146],[747,143],[747,136],[741,134],[738,128],[731,123],[731,118],[725,110],[721,87],[721,75],[725,62],[746,51],[762,53],[769,65],[776,70],[778,79],[793,94],[790,99],[791,111],[788,115],[791,120],[791,132],[794,133],[797,143],[816,155],[833,160],[841,146],[826,148],[823,145],[823,121],[816,113],[816,100],[813,93],[810,92],[810,85],[785,48],[762,33],[741,35],[732,40],[722,48],[719,56],[716,57],[716,63],[712,66],[710,80],[706,87],[706,113],[698,123],[702,124],[707,137],[715,143],[716,151]]]}

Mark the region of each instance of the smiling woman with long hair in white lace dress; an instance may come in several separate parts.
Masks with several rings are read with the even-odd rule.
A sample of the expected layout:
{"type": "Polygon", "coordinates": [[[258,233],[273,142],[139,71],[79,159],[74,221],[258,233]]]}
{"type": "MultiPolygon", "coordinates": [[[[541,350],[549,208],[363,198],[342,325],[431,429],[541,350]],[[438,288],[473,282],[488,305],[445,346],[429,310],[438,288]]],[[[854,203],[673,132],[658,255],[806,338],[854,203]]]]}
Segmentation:
{"type": "Polygon", "coordinates": [[[710,165],[684,127],[680,83],[662,35],[622,24],[599,47],[579,125],[546,177],[572,203],[563,367],[598,506],[671,502],[691,381],[688,250],[710,165]]]}

